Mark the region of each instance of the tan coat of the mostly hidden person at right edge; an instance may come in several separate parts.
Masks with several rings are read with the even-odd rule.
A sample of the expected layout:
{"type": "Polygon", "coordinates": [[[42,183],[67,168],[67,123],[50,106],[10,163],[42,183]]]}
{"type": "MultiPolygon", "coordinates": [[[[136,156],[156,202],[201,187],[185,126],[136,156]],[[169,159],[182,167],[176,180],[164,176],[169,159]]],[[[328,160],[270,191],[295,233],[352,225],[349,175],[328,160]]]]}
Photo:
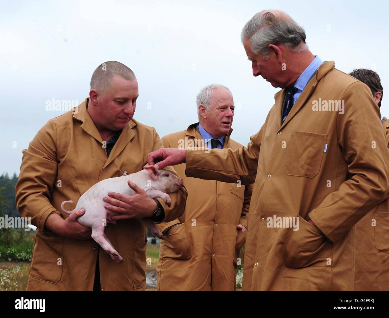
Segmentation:
{"type": "MultiPolygon", "coordinates": [[[[383,125],[389,148],[389,120],[383,125]]],[[[373,208],[355,229],[354,290],[389,291],[389,200],[373,208]]]]}

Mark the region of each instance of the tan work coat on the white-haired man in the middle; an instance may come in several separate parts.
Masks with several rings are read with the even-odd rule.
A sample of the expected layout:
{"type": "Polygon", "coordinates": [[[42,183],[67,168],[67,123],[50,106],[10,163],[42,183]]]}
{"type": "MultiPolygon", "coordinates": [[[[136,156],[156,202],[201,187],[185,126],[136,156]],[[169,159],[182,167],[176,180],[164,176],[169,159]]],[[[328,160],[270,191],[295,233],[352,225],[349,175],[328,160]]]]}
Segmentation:
{"type": "MultiPolygon", "coordinates": [[[[201,144],[202,137],[195,130],[197,125],[163,137],[163,146],[179,148],[186,143],[189,148],[201,147],[204,143],[201,144]]],[[[225,137],[223,148],[242,148],[230,138],[231,132],[232,129],[225,137]]],[[[160,291],[233,291],[236,267],[242,264],[239,251],[245,242],[245,234],[237,230],[237,225],[247,227],[252,186],[187,177],[185,164],[174,168],[184,180],[188,199],[183,216],[158,225],[165,230],[181,223],[161,240],[157,288],[160,291]]]]}

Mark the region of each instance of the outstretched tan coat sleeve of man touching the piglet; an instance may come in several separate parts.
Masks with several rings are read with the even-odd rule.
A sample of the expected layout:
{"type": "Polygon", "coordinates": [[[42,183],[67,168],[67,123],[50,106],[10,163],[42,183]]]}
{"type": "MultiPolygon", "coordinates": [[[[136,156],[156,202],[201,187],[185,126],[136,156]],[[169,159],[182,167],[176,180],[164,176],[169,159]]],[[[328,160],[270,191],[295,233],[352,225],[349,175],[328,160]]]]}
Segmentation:
{"type": "Polygon", "coordinates": [[[187,150],[185,174],[188,177],[228,183],[236,183],[238,180],[242,184],[254,183],[264,126],[250,137],[247,147],[236,150],[207,149],[207,152],[203,149],[187,150]]]}

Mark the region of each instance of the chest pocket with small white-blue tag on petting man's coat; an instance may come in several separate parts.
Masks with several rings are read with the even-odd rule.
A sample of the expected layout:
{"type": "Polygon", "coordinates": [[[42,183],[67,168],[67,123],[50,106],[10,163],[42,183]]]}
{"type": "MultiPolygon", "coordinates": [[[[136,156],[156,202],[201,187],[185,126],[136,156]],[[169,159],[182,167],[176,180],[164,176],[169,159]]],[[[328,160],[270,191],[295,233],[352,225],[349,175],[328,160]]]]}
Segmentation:
{"type": "Polygon", "coordinates": [[[327,135],[294,130],[286,145],[286,174],[313,178],[320,171],[327,135]]]}

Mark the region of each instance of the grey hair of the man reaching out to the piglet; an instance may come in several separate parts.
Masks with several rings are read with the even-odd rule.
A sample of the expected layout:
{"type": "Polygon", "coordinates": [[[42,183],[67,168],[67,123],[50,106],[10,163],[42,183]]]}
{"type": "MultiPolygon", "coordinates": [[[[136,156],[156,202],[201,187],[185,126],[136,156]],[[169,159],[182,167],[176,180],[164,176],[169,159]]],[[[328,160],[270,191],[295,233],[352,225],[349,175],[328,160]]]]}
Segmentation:
{"type": "Polygon", "coordinates": [[[250,39],[250,48],[254,54],[269,58],[269,44],[282,43],[291,51],[301,52],[308,49],[305,44],[304,28],[299,26],[286,13],[286,17],[276,17],[271,12],[258,12],[242,29],[242,43],[250,39]]]}

